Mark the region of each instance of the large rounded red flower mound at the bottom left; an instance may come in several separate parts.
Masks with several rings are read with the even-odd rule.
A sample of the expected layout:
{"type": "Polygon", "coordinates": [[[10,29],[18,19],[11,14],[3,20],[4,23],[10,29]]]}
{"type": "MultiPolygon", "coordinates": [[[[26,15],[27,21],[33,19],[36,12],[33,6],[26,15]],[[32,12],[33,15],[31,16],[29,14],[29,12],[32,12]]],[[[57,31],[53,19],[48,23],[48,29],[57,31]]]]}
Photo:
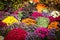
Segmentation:
{"type": "Polygon", "coordinates": [[[15,28],[8,32],[4,40],[25,40],[27,32],[20,28],[15,28]]]}

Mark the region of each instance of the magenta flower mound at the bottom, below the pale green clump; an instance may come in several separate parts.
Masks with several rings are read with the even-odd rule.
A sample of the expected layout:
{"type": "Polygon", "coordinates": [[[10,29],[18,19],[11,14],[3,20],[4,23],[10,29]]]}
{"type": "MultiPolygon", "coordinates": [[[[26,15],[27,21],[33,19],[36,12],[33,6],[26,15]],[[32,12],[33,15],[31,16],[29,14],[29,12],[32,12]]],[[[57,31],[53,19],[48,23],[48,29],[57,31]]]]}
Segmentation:
{"type": "Polygon", "coordinates": [[[34,32],[36,35],[38,35],[40,38],[45,38],[48,36],[48,29],[47,28],[43,28],[43,27],[39,27],[35,30],[34,32]]]}

